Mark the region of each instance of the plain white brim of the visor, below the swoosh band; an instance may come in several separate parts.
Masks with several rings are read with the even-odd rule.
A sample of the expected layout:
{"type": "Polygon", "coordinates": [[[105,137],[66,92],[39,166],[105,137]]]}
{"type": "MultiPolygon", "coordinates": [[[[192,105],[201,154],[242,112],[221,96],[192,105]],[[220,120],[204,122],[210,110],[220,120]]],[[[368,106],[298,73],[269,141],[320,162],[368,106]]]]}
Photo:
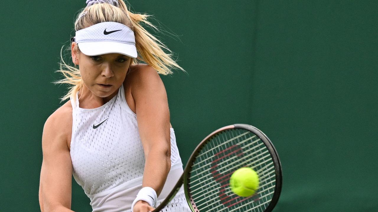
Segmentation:
{"type": "Polygon", "coordinates": [[[108,53],[123,54],[132,58],[136,58],[138,53],[133,44],[118,43],[114,41],[97,41],[82,42],[77,44],[80,51],[88,56],[102,55],[108,53]]]}

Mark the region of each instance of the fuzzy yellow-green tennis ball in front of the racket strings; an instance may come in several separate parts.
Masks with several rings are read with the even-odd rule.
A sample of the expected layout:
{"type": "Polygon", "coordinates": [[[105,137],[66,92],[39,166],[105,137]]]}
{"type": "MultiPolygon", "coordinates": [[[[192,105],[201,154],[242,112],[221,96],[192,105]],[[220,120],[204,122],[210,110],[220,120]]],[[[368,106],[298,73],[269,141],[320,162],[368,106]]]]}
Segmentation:
{"type": "Polygon", "coordinates": [[[230,187],[232,192],[236,195],[249,197],[253,195],[259,187],[259,176],[249,167],[240,168],[232,173],[230,187]]]}

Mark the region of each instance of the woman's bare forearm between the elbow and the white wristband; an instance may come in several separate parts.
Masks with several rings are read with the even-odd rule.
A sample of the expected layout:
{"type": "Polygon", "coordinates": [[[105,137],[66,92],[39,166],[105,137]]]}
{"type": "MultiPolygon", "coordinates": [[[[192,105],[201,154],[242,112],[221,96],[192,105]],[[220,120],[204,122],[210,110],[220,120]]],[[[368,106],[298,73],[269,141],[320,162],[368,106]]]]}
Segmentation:
{"type": "Polygon", "coordinates": [[[143,187],[152,187],[159,196],[170,170],[170,149],[151,149],[146,156],[143,174],[143,187]]]}

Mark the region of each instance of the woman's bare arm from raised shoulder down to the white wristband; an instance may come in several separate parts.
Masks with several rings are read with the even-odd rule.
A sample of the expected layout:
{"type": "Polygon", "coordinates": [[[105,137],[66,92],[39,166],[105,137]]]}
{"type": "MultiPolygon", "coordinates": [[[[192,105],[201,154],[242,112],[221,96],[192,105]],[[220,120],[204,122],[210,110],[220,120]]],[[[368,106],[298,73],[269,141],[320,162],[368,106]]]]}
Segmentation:
{"type": "Polygon", "coordinates": [[[138,65],[130,75],[146,164],[143,187],[159,195],[170,170],[170,122],[166,90],[154,68],[138,65]]]}

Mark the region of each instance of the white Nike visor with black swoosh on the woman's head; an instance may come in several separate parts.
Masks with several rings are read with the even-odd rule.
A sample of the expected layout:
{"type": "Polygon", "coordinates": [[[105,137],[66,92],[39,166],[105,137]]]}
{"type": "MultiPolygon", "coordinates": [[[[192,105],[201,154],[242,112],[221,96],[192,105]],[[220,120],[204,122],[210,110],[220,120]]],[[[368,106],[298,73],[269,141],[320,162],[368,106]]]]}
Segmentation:
{"type": "Polygon", "coordinates": [[[76,31],[74,41],[83,54],[95,56],[118,53],[132,58],[138,56],[134,32],[117,22],[102,22],[76,31]]]}

